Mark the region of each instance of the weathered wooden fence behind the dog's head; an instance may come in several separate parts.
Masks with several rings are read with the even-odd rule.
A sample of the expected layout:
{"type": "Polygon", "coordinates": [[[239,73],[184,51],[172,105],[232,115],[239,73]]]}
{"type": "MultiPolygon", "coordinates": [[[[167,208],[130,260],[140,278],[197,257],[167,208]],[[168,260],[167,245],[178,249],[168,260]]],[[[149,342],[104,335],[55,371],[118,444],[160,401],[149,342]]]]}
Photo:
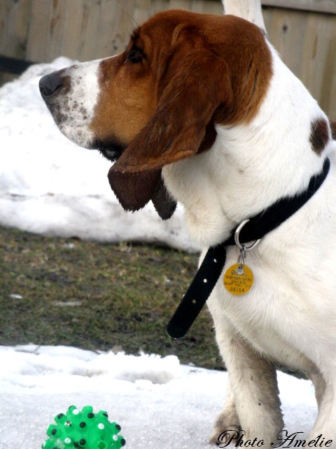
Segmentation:
{"type": "MultiPolygon", "coordinates": [[[[269,39],[336,120],[336,0],[262,1],[269,39]]],[[[0,0],[0,55],[49,62],[104,58],[171,8],[221,14],[218,0],[0,0]]]]}

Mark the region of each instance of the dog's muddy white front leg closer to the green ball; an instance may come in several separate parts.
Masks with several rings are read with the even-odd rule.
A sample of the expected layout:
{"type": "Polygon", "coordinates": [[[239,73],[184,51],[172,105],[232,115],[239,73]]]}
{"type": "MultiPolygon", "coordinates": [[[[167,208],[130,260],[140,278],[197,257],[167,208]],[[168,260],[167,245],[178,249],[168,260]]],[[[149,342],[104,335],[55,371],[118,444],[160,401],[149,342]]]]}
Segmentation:
{"type": "Polygon", "coordinates": [[[240,427],[244,441],[256,438],[263,442],[263,447],[270,447],[283,429],[276,370],[241,338],[223,314],[214,317],[216,339],[228,368],[231,391],[216,421],[211,442],[224,447],[230,438],[225,432],[240,427]],[[232,422],[232,417],[234,421],[237,417],[237,422],[232,422]]]}

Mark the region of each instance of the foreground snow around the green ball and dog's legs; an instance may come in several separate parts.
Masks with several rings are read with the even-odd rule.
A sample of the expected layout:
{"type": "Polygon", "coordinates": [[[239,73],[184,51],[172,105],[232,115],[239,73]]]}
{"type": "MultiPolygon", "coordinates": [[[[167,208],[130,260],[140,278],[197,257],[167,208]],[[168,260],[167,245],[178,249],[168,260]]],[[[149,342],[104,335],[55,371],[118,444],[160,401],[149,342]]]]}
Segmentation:
{"type": "MultiPolygon", "coordinates": [[[[206,449],[225,399],[227,374],[183,366],[176,356],[130,356],[72,347],[0,347],[0,448],[41,447],[71,405],[106,410],[126,448],[206,449]]],[[[307,434],[311,382],[278,373],[286,429],[307,434]]]]}

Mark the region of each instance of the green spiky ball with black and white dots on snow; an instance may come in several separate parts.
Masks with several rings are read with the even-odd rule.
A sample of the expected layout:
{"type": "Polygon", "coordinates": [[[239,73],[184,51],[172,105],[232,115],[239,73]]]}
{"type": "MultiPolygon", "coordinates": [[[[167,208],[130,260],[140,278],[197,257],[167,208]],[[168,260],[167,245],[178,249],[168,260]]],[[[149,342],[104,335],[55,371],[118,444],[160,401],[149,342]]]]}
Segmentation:
{"type": "Polygon", "coordinates": [[[109,422],[104,410],[93,413],[91,406],[80,412],[75,406],[69,407],[64,415],[55,417],[56,424],[47,430],[49,438],[42,449],[120,449],[126,441],[118,435],[121,427],[109,422]]]}

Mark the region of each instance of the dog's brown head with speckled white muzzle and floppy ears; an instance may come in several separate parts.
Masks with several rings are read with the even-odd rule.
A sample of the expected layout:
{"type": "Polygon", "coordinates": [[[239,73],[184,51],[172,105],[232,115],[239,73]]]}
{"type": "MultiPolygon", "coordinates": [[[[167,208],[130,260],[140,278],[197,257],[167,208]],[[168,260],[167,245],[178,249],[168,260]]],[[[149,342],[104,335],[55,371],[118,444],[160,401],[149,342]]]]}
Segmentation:
{"type": "Polygon", "coordinates": [[[250,121],[272,74],[262,30],[234,16],[167,11],[123,53],[44,76],[40,90],[69,139],[115,161],[109,182],[127,210],[175,203],[163,166],[211,149],[216,123],[250,121]]]}

